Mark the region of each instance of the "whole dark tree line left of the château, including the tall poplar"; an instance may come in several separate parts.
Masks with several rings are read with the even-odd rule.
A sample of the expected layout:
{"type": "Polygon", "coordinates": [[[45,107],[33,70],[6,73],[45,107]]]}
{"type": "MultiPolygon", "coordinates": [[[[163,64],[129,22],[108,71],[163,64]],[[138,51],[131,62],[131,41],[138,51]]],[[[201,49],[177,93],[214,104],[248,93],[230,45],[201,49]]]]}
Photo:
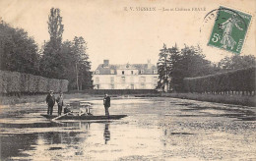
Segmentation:
{"type": "Polygon", "coordinates": [[[23,28],[0,22],[0,70],[68,80],[69,89],[92,88],[91,62],[82,36],[63,41],[64,25],[58,8],[48,16],[50,39],[39,50],[23,28]]]}

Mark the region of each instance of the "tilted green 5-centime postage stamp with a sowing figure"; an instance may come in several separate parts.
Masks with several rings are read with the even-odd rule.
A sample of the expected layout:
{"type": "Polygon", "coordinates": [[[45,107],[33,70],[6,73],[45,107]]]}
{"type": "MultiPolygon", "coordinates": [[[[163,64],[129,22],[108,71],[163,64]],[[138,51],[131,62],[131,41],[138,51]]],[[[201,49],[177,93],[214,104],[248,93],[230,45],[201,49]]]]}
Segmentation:
{"type": "Polygon", "coordinates": [[[220,7],[208,45],[240,54],[251,15],[220,7]]]}

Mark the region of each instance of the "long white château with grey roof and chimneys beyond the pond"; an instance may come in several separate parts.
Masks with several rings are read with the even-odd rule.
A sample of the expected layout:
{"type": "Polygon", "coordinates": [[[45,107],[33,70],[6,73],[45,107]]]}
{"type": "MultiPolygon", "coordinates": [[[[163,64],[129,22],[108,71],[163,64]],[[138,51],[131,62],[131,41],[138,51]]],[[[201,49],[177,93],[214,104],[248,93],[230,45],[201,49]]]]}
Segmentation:
{"type": "Polygon", "coordinates": [[[158,68],[148,64],[111,65],[108,60],[99,64],[93,74],[95,89],[155,89],[158,68]]]}

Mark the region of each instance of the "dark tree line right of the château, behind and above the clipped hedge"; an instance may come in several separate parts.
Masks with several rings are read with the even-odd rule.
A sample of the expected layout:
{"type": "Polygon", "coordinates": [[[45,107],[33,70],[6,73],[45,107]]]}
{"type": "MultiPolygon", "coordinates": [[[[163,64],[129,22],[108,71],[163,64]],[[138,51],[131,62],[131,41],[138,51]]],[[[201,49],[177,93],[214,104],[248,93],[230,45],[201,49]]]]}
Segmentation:
{"type": "Polygon", "coordinates": [[[165,44],[160,49],[157,88],[164,91],[187,91],[185,78],[196,78],[220,74],[228,71],[256,67],[253,55],[233,55],[225,57],[218,63],[205,59],[200,46],[187,46],[179,49],[177,45],[167,48],[165,44]]]}

